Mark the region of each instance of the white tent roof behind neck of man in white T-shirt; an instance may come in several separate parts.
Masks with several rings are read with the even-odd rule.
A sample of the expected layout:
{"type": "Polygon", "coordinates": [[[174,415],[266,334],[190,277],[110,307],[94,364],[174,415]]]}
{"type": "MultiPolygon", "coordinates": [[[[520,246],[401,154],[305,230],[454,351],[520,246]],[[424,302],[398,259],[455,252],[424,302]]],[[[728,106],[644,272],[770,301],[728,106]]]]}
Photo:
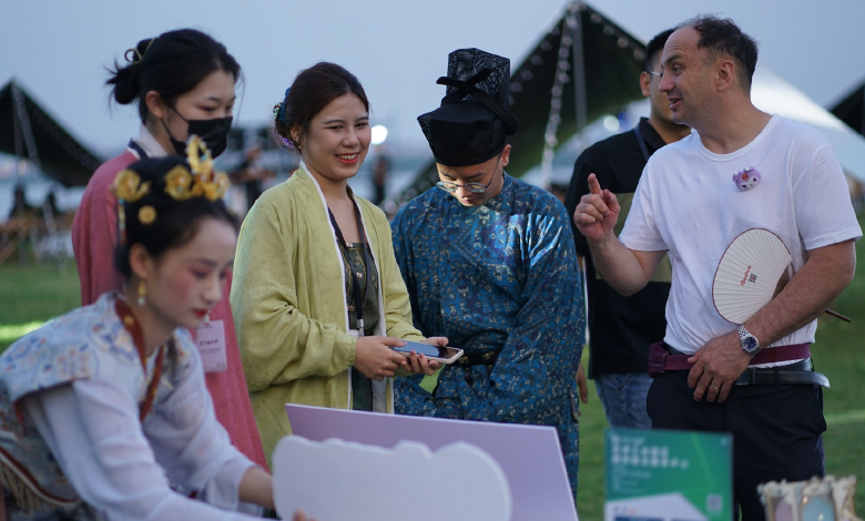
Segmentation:
{"type": "Polygon", "coordinates": [[[751,100],[762,111],[817,129],[835,149],[844,172],[865,182],[865,137],[760,63],[754,71],[751,100]]]}

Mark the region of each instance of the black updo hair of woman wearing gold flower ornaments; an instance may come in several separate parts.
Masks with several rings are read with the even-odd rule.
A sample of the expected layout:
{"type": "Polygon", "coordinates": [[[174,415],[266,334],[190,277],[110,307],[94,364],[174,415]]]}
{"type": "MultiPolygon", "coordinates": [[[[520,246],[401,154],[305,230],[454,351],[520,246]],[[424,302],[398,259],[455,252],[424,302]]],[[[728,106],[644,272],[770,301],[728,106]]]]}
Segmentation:
{"type": "Polygon", "coordinates": [[[159,258],[167,251],[189,244],[199,233],[205,218],[224,221],[237,232],[237,219],[225,206],[222,198],[210,201],[207,197],[191,197],[176,201],[165,192],[166,174],[177,165],[190,168],[186,159],[171,155],[160,159],[142,160],[126,167],[141,177],[141,184],[150,182],[147,193],[135,202],[123,204],[125,217],[125,241],[114,248],[114,267],[129,280],[132,277],[129,255],[133,244],[141,244],[152,257],[159,258]],[[150,206],[151,208],[145,208],[150,206]],[[142,208],[145,208],[142,212],[142,208]],[[142,223],[142,215],[155,218],[142,223]]]}

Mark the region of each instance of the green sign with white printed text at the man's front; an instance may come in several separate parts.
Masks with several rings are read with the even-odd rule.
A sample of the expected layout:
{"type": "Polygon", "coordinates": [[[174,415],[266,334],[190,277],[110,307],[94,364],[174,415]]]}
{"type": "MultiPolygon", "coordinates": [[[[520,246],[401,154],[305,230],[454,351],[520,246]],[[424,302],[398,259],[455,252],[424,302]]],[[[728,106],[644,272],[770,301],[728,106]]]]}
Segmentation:
{"type": "Polygon", "coordinates": [[[730,521],[733,438],[607,429],[606,521],[730,521]]]}

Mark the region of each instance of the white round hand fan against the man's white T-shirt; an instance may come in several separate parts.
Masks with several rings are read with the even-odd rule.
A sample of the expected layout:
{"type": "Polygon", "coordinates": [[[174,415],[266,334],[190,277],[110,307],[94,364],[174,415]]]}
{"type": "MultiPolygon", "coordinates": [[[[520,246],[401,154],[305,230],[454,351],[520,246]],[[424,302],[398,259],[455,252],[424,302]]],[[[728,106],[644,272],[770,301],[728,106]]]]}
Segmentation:
{"type": "Polygon", "coordinates": [[[781,292],[793,275],[793,257],[784,242],[763,228],[743,232],[721,257],[712,283],[712,300],[727,321],[744,324],[781,292]]]}

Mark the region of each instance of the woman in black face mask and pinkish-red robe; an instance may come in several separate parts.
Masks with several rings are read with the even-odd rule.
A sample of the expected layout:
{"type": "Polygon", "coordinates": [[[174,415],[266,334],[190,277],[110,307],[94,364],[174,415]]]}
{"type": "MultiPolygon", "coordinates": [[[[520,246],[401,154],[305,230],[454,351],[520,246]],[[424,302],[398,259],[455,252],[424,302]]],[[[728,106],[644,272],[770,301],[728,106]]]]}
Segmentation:
{"type": "MultiPolygon", "coordinates": [[[[225,45],[193,29],[142,40],[124,58],[126,63],[115,65],[106,83],[119,104],[138,103],[142,124],[126,150],[93,174],[75,213],[72,244],[84,306],[122,285],[113,266],[118,200],[110,191],[118,172],[147,157],[185,156],[184,143],[191,134],[202,137],[213,155],[218,155],[225,150],[234,85],[241,75],[241,67],[225,45]]],[[[231,276],[223,295],[227,296],[230,288],[231,276]]],[[[234,446],[264,467],[227,297],[211,310],[210,319],[225,346],[225,366],[213,367],[205,375],[216,418],[234,446]]]]}

